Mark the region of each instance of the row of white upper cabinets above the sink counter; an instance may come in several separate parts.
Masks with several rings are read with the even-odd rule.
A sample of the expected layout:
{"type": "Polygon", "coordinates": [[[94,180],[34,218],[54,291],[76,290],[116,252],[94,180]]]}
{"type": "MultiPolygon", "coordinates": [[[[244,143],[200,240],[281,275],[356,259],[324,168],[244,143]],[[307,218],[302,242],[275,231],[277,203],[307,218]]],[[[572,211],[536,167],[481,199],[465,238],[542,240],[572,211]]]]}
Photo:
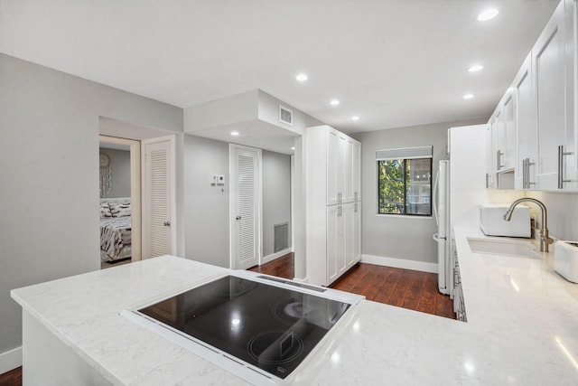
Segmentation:
{"type": "Polygon", "coordinates": [[[489,120],[493,187],[511,169],[517,189],[578,190],[576,12],[560,2],[489,120]]]}

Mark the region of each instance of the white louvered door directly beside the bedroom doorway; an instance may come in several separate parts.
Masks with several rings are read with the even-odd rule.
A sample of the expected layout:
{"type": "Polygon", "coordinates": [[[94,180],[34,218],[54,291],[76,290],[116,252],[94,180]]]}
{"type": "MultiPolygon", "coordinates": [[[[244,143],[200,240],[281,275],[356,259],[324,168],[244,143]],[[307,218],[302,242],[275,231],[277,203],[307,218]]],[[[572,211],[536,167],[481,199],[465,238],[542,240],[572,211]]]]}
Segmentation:
{"type": "Polygon", "coordinates": [[[174,137],[143,141],[143,259],[174,254],[174,137]]]}

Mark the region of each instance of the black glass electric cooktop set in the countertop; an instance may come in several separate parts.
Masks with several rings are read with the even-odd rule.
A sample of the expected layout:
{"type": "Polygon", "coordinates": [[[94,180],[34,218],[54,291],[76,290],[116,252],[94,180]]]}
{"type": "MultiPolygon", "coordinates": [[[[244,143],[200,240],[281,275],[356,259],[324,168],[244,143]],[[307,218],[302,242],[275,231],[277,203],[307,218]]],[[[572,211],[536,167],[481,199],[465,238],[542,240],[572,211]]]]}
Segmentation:
{"type": "Polygon", "coordinates": [[[227,276],[138,311],[284,379],[349,307],[227,276]]]}

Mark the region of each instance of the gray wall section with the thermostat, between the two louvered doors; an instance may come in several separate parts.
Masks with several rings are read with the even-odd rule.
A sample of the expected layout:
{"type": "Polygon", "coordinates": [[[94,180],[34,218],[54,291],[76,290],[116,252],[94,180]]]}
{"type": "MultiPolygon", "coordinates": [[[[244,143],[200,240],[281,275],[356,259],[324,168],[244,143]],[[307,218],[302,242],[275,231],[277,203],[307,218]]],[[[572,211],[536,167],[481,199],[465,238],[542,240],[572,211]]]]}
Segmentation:
{"type": "Polygon", "coordinates": [[[183,155],[185,257],[228,268],[228,143],[185,134],[183,155]],[[211,186],[212,174],[225,185],[211,186]]]}

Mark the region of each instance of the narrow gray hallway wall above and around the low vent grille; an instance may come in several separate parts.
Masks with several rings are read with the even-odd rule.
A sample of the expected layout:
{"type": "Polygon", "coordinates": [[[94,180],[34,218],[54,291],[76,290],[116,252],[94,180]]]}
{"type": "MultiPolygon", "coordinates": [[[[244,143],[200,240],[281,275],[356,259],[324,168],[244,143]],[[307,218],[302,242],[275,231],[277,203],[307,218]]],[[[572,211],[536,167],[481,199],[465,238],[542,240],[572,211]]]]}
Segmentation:
{"type": "Polygon", "coordinates": [[[291,156],[263,151],[263,256],[275,252],[274,225],[289,223],[291,247],[291,156]]]}

